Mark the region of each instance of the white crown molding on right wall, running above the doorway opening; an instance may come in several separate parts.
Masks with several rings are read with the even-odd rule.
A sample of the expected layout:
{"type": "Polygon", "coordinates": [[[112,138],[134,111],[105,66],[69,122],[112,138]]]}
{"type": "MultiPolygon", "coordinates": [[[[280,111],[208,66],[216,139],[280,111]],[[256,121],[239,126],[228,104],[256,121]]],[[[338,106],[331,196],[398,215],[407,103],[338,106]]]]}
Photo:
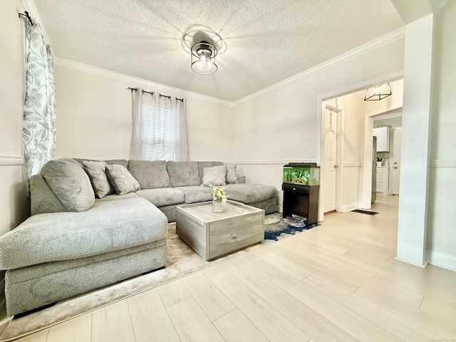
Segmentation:
{"type": "Polygon", "coordinates": [[[267,88],[257,91],[256,93],[247,95],[246,97],[241,98],[240,100],[234,101],[234,103],[232,104],[232,107],[236,107],[237,105],[242,105],[243,103],[247,103],[250,100],[253,100],[254,98],[259,98],[259,97],[266,95],[268,93],[271,93],[275,90],[284,88],[293,83],[304,80],[305,78],[314,76],[317,73],[321,73],[322,71],[327,70],[328,68],[333,68],[334,66],[337,66],[338,64],[349,61],[353,58],[363,55],[364,53],[373,51],[373,50],[375,50],[375,48],[380,48],[381,46],[385,46],[388,43],[392,43],[393,41],[397,41],[398,39],[401,39],[404,37],[405,37],[405,26],[398,28],[397,30],[392,31],[390,33],[387,33],[384,36],[376,38],[373,41],[370,41],[366,44],[358,46],[357,48],[353,48],[352,50],[350,50],[346,53],[342,53],[341,55],[339,55],[335,58],[331,58],[330,60],[328,60],[326,62],[318,64],[318,66],[309,68],[306,71],[303,71],[302,73],[298,73],[295,76],[286,78],[284,81],[280,81],[279,83],[276,83],[273,86],[269,86],[267,88]]]}

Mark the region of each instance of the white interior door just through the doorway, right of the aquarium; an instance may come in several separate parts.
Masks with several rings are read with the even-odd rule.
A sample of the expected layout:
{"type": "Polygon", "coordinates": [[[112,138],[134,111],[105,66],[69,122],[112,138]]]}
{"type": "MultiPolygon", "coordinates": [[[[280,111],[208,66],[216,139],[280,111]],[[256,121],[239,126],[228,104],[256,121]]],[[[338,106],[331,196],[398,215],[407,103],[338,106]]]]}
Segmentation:
{"type": "Polygon", "coordinates": [[[323,212],[331,212],[336,209],[337,113],[326,108],[325,115],[323,212]]]}

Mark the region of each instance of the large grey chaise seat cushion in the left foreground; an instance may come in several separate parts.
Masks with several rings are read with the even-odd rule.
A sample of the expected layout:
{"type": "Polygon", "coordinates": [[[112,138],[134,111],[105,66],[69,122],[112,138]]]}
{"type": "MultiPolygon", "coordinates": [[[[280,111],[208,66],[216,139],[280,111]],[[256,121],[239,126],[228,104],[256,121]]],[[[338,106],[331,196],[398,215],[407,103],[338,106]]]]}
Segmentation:
{"type": "Polygon", "coordinates": [[[96,202],[86,212],[37,214],[0,237],[0,269],[90,257],[166,234],[165,214],[141,197],[96,202]]]}

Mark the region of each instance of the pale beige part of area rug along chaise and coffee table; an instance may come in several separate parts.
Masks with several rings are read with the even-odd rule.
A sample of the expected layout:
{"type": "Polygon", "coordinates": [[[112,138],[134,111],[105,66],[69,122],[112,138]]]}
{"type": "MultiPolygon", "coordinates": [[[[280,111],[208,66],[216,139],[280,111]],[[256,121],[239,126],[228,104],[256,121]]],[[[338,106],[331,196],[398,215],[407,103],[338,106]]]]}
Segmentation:
{"type": "MultiPolygon", "coordinates": [[[[275,213],[267,215],[265,218],[266,229],[274,229],[274,226],[283,226],[280,221],[280,214],[275,213]]],[[[281,237],[283,238],[283,237],[281,237]]],[[[168,225],[167,252],[168,261],[165,269],[152,271],[148,274],[136,276],[117,284],[106,286],[103,289],[90,291],[86,294],[59,301],[53,306],[47,307],[40,311],[33,312],[26,316],[14,318],[4,331],[0,341],[11,341],[21,336],[48,328],[57,323],[67,321],[68,319],[86,314],[102,306],[112,304],[129,296],[133,296],[142,291],[152,289],[155,286],[165,284],[168,281],[191,274],[207,266],[219,264],[227,259],[238,257],[253,249],[263,247],[266,244],[274,243],[273,240],[265,240],[261,244],[247,247],[239,252],[229,254],[214,261],[206,261],[185,244],[175,233],[175,224],[168,225]]]]}

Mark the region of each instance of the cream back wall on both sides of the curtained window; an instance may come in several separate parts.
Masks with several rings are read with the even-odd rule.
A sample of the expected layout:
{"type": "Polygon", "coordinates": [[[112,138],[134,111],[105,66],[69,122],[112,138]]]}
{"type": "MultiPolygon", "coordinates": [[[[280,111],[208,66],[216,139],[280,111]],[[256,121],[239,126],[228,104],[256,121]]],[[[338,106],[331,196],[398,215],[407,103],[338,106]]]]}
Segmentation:
{"type": "MultiPolygon", "coordinates": [[[[57,66],[55,72],[56,158],[128,159],[131,95],[127,88],[137,85],[65,66],[57,66]]],[[[190,160],[232,160],[231,114],[226,105],[187,97],[190,160]]]]}

